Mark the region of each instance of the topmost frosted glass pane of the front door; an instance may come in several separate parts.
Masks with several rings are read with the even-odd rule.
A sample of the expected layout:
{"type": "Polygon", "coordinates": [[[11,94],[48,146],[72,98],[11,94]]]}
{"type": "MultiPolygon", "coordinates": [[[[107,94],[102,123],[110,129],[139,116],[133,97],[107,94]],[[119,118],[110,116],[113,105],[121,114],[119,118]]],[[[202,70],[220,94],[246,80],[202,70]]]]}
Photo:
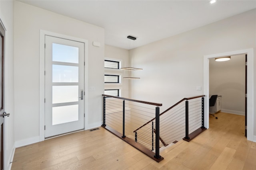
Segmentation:
{"type": "Polygon", "coordinates": [[[78,63],[78,47],[52,43],[52,61],[78,63]]]}

